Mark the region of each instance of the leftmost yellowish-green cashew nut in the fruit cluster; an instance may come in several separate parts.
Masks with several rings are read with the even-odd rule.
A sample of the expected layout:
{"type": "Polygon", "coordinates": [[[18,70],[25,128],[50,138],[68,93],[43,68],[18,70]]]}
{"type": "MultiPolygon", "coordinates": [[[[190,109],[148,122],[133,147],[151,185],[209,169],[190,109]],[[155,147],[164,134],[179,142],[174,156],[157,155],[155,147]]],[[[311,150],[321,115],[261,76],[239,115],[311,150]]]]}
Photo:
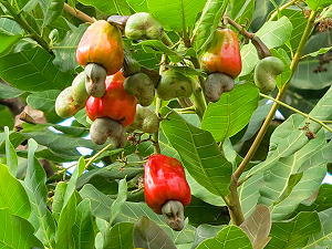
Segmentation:
{"type": "Polygon", "coordinates": [[[55,112],[59,116],[66,118],[75,115],[85,103],[76,103],[73,100],[73,86],[64,89],[55,100],[55,112]]]}

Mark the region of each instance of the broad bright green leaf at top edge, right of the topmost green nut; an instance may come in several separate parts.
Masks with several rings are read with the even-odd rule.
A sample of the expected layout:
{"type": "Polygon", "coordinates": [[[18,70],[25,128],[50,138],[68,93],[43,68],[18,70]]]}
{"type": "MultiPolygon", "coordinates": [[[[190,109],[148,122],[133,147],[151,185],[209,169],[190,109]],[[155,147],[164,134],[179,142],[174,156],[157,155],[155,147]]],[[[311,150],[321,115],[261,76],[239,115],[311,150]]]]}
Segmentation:
{"type": "Polygon", "coordinates": [[[187,31],[193,28],[204,0],[146,0],[151,13],[160,21],[164,28],[174,31],[187,31]]]}

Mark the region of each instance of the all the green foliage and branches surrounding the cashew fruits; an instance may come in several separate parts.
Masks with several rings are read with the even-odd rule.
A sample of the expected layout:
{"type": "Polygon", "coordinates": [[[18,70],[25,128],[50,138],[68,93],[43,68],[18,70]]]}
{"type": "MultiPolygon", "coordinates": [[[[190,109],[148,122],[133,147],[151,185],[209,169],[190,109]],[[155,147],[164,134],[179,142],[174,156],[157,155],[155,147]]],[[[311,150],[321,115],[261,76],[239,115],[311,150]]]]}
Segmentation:
{"type": "Polygon", "coordinates": [[[0,248],[332,248],[331,13],[331,0],[0,0],[0,248]],[[89,22],[135,12],[163,28],[123,37],[125,53],[155,86],[170,69],[193,95],[166,90],[148,107],[158,132],[96,145],[84,110],[61,118],[55,100],[83,71],[89,22]],[[238,33],[242,70],[207,103],[199,60],[221,25],[238,33]],[[253,37],[286,68],[270,95],[253,83],[253,37]],[[144,203],[144,164],[159,152],[191,189],[181,231],[144,203]]]}

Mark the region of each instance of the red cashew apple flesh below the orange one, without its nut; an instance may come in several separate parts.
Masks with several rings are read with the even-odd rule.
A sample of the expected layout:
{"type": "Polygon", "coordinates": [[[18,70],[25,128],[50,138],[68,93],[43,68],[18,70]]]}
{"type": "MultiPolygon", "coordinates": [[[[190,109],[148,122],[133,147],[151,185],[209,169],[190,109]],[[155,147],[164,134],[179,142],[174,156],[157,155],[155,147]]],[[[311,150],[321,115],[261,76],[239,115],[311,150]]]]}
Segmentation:
{"type": "Polygon", "coordinates": [[[86,101],[86,114],[90,120],[110,117],[127,126],[134,122],[137,100],[124,87],[122,72],[106,77],[106,93],[102,97],[90,96],[86,101]]]}

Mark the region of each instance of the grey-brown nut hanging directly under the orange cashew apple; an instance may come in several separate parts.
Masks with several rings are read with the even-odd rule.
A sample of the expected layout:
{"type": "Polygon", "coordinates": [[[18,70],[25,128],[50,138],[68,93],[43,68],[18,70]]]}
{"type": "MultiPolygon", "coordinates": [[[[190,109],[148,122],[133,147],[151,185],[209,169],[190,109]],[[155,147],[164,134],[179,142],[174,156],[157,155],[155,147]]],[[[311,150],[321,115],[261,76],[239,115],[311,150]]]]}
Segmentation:
{"type": "Polygon", "coordinates": [[[96,63],[89,63],[84,72],[86,75],[85,89],[87,94],[94,97],[102,97],[106,92],[106,70],[96,63]]]}

